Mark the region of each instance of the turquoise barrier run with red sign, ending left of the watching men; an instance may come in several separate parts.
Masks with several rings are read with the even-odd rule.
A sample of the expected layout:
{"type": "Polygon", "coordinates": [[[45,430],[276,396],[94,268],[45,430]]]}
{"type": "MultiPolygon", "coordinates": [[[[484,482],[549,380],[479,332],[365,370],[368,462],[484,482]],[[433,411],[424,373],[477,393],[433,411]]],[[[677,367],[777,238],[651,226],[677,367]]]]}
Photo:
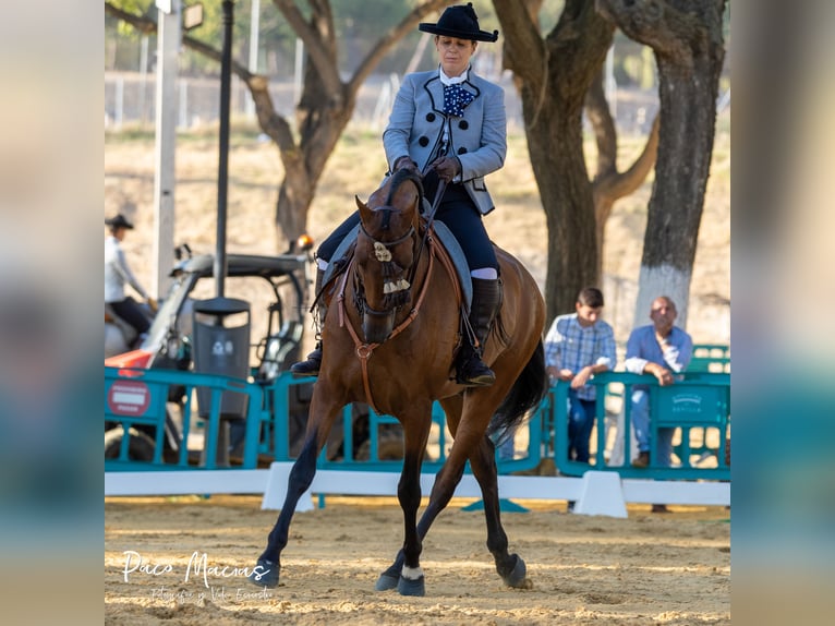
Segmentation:
{"type": "MultiPolygon", "coordinates": [[[[124,436],[119,456],[105,460],[105,471],[145,471],[173,469],[225,469],[219,465],[218,441],[221,423],[226,419],[220,413],[223,394],[235,393],[247,396],[246,412],[243,418],[245,434],[243,456],[235,459],[234,469],[256,469],[269,461],[289,461],[291,440],[297,433],[290,430],[291,402],[290,394],[293,386],[310,384],[315,378],[297,378],[289,372],[283,372],[269,382],[257,382],[253,378],[244,381],[219,374],[205,374],[192,371],[177,370],[132,370],[105,368],[105,422],[110,425],[121,424],[124,436]],[[195,397],[197,389],[210,390],[210,407],[196,410],[195,397]],[[166,416],[171,404],[178,406],[182,413],[180,431],[177,433],[181,442],[177,458],[166,458],[164,455],[166,437],[166,416]],[[202,413],[203,416],[198,414],[202,413]],[[195,462],[195,450],[187,449],[189,436],[197,424],[203,422],[204,447],[199,462],[195,462]],[[154,458],[150,461],[129,458],[131,429],[149,426],[154,433],[154,458]],[[192,454],[190,454],[192,453],[192,454]]],[[[544,438],[544,421],[549,419],[548,406],[544,405],[534,412],[530,421],[523,425],[528,429],[527,454],[521,450],[520,458],[499,459],[499,473],[529,470],[536,467],[546,446],[544,438]]],[[[368,409],[368,456],[354,458],[353,422],[355,416],[352,406],[342,410],[342,455],[338,459],[328,459],[328,448],[323,449],[318,458],[318,467],[323,469],[351,469],[367,471],[400,471],[401,459],[379,458],[379,433],[385,426],[399,429],[399,423],[391,416],[377,414],[368,409]],[[392,426],[394,424],[394,426],[392,426]]],[[[438,471],[447,458],[446,416],[438,402],[433,405],[432,420],[437,428],[438,454],[424,461],[424,471],[438,471]]],[[[303,429],[304,425],[302,424],[303,429]]],[[[303,433],[302,433],[303,434],[303,433]]],[[[299,435],[301,436],[301,434],[299,435]]],[[[470,471],[469,465],[465,471],[470,471]]]]}

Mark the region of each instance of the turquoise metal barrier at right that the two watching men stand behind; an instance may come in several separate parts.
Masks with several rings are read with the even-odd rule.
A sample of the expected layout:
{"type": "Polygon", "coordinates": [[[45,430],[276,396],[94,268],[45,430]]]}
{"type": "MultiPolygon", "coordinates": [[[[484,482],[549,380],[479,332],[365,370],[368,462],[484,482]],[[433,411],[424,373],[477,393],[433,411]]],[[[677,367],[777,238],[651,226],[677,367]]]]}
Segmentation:
{"type": "Polygon", "coordinates": [[[712,373],[685,373],[677,376],[674,385],[661,387],[655,376],[606,372],[591,381],[597,388],[595,411],[596,453],[593,464],[582,464],[568,458],[566,445],[568,434],[568,389],[569,384],[558,382],[553,388],[553,441],[555,462],[560,473],[582,475],[590,469],[617,471],[621,478],[679,479],[679,480],[730,480],[730,468],[725,462],[730,425],[730,375],[712,373]],[[632,468],[629,459],[631,440],[631,392],[636,385],[643,385],[650,393],[650,423],[652,441],[657,441],[658,428],[681,429],[681,442],[674,453],[679,457],[680,467],[661,467],[655,450],[651,450],[648,468],[632,468]],[[624,464],[612,466],[605,453],[607,449],[606,405],[608,397],[619,397],[624,413],[624,464]],[[693,433],[692,431],[698,431],[693,433]],[[718,440],[715,447],[707,446],[707,432],[718,440]],[[691,446],[691,435],[701,434],[702,445],[691,446]],[[693,456],[704,458],[710,454],[716,458],[716,467],[697,467],[693,456]]]}

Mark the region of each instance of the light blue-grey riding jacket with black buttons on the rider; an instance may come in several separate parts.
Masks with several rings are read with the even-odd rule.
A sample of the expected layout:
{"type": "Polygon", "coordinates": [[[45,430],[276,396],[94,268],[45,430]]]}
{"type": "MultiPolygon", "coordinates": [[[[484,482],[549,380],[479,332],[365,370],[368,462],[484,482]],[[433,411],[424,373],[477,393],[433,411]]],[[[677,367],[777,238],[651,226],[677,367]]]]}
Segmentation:
{"type": "Polygon", "coordinates": [[[482,215],[495,208],[484,177],[505,164],[507,116],[505,91],[472,69],[461,86],[474,99],[462,118],[444,113],[444,85],[438,70],[407,74],[383,133],[389,171],[409,155],[425,173],[438,156],[444,125],[449,124],[447,155],[461,161],[461,181],[482,215]]]}

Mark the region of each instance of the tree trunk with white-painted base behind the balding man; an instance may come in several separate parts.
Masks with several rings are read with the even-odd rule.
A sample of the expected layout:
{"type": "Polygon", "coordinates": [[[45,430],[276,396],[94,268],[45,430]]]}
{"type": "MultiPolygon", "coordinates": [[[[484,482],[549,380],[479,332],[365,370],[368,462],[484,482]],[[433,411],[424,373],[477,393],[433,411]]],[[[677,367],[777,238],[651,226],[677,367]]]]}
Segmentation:
{"type": "Polygon", "coordinates": [[[648,209],[636,325],[650,304],[669,296],[687,324],[699,225],[704,206],[725,59],[727,0],[598,0],[604,15],[651,46],[658,64],[661,127],[655,183],[648,209]]]}

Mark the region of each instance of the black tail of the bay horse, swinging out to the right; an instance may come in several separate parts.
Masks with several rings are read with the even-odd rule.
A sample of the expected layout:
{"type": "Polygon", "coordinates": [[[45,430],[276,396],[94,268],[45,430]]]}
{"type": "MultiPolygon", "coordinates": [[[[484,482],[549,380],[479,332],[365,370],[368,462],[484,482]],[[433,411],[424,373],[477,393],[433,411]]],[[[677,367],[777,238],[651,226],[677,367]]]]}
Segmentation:
{"type": "Polygon", "coordinates": [[[516,426],[529,417],[532,409],[540,406],[547,393],[548,376],[545,373],[545,348],[542,339],[540,339],[528,364],[493,414],[487,429],[487,436],[492,437],[497,434],[496,444],[500,445],[509,436],[512,436],[516,426]]]}

